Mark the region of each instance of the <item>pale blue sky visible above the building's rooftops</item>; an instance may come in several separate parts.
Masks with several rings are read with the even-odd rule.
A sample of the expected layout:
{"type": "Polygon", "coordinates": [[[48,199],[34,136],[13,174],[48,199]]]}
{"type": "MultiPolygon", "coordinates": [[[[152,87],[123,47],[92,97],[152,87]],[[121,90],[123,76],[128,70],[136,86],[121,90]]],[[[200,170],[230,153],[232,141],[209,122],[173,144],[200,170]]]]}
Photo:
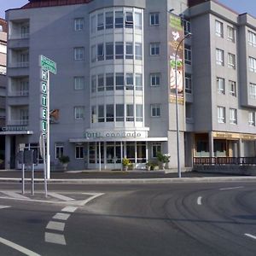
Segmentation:
{"type": "MultiPolygon", "coordinates": [[[[154,0],[157,1],[157,0],[154,0]]],[[[239,14],[248,13],[256,17],[256,1],[255,0],[218,0],[224,3],[230,9],[234,9],[239,14]]],[[[4,18],[6,9],[20,8],[28,3],[28,0],[0,0],[0,17],[4,18]]]]}

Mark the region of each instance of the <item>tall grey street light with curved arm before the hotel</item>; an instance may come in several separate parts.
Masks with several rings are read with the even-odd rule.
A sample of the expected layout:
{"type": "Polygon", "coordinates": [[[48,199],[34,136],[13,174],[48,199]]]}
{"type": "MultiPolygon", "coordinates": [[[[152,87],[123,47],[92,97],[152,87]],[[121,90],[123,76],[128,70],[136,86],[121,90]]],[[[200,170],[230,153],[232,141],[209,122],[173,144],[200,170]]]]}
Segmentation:
{"type": "Polygon", "coordinates": [[[180,155],[179,155],[179,118],[178,118],[178,103],[177,103],[177,51],[179,49],[179,47],[181,46],[181,44],[183,43],[183,41],[186,38],[191,37],[191,33],[187,33],[183,39],[179,42],[179,44],[177,44],[177,49],[175,52],[175,85],[176,85],[176,89],[175,89],[175,96],[176,96],[176,130],[177,130],[177,173],[178,173],[178,177],[181,177],[181,168],[180,168],[180,155]]]}

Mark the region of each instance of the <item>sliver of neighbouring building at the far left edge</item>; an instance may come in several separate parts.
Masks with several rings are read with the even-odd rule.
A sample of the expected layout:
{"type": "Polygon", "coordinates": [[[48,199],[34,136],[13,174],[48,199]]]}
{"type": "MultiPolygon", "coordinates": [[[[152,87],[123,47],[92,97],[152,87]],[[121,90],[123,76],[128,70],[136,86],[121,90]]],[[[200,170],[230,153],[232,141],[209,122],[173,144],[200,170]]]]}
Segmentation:
{"type": "MultiPolygon", "coordinates": [[[[0,19],[0,131],[5,125],[7,22],[0,19]]],[[[0,160],[4,160],[5,137],[0,135],[0,160]]],[[[3,163],[0,161],[0,169],[3,163]]]]}

